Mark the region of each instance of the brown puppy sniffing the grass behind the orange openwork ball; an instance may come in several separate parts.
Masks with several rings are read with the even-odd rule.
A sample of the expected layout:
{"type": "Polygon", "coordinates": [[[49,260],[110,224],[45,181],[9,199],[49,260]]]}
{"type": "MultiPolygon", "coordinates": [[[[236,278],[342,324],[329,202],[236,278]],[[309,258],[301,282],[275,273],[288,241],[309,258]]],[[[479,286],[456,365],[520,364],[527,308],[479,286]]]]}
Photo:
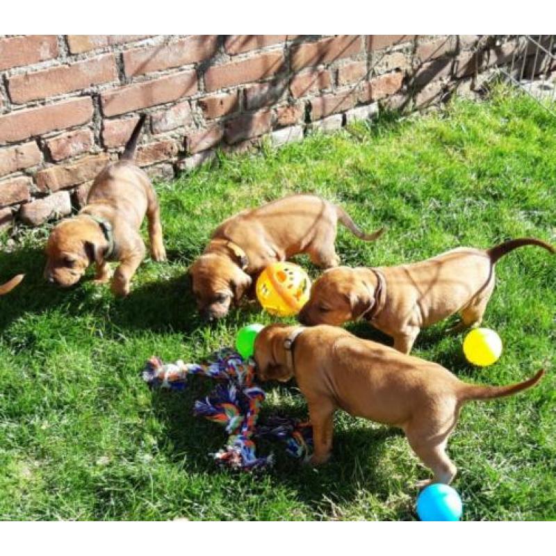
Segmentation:
{"type": "Polygon", "coordinates": [[[338,220],[366,241],[383,231],[365,234],[343,208],[316,195],[285,197],[225,220],[189,270],[199,312],[208,320],[225,316],[267,265],[293,255],[306,253],[322,268],[337,266],[338,220]]]}

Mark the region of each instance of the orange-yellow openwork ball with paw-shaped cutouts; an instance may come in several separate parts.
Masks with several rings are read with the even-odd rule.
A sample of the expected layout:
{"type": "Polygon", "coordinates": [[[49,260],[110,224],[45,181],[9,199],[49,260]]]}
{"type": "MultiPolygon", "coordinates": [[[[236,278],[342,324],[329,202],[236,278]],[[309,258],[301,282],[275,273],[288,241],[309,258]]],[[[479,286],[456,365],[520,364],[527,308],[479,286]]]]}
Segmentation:
{"type": "Polygon", "coordinates": [[[256,281],[256,297],[272,315],[296,315],[309,300],[311,280],[293,263],[272,263],[256,281]]]}

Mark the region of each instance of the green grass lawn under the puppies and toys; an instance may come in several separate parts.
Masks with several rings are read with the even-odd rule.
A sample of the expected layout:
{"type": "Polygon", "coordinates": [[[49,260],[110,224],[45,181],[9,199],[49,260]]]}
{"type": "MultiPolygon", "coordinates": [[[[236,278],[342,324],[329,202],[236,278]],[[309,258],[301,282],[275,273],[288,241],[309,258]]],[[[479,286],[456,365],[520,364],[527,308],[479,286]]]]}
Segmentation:
{"type": "MultiPolygon", "coordinates": [[[[199,361],[231,345],[241,325],[271,322],[245,304],[208,327],[186,286],[186,267],[211,229],[240,209],[318,193],[343,204],[361,227],[388,228],[369,244],[341,229],[343,263],[393,265],[517,236],[555,243],[555,184],[556,120],[501,89],[482,104],[384,115],[158,183],[170,262],[147,259],[125,300],[88,281],[70,291],[45,284],[49,227],[22,231],[12,252],[0,255],[0,281],[26,273],[0,298],[0,518],[416,518],[413,484],[428,471],[400,432],[338,413],[326,466],[300,466],[280,446],[261,445],[277,455],[268,473],[222,471],[208,456],[222,445],[222,430],[191,416],[211,384],[198,379],[184,393],[151,392],[140,370],[152,354],[199,361]]],[[[454,320],[425,330],[414,354],[482,384],[549,369],[531,391],[468,404],[448,452],[466,519],[556,518],[555,259],[527,247],[502,259],[497,273],[484,321],[505,342],[496,365],[464,361],[462,336],[445,334],[454,320]]],[[[388,341],[366,325],[350,329],[388,341]]],[[[267,390],[265,412],[306,414],[295,384],[267,390]]]]}

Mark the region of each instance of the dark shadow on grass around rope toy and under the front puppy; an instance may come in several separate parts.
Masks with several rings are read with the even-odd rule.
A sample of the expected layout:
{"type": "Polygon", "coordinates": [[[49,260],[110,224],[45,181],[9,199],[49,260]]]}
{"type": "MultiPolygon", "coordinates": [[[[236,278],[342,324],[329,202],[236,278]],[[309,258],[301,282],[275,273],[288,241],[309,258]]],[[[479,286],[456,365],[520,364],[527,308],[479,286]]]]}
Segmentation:
{"type": "MultiPolygon", "coordinates": [[[[225,473],[233,481],[243,472],[218,468],[211,453],[218,452],[227,441],[222,427],[204,418],[193,416],[195,400],[204,397],[214,387],[211,380],[192,379],[183,392],[153,391],[152,402],[158,420],[163,423],[163,450],[174,464],[185,473],[217,474],[225,473]]],[[[284,389],[284,386],[275,386],[284,389]]],[[[272,386],[266,389],[272,391],[272,386]]],[[[263,407],[261,422],[270,415],[284,415],[306,419],[304,402],[296,407],[291,404],[263,407]]],[[[256,441],[257,455],[275,456],[275,464],[265,471],[252,473],[256,481],[261,474],[270,474],[272,481],[284,484],[297,493],[297,498],[319,514],[329,513],[329,502],[347,504],[366,489],[378,498],[388,498],[388,479],[379,469],[386,441],[403,433],[392,427],[368,427],[350,424],[348,430],[341,430],[336,423],[334,452],[330,461],[313,468],[286,455],[280,442],[256,441]]],[[[409,518],[409,515],[408,515],[409,518]]]]}

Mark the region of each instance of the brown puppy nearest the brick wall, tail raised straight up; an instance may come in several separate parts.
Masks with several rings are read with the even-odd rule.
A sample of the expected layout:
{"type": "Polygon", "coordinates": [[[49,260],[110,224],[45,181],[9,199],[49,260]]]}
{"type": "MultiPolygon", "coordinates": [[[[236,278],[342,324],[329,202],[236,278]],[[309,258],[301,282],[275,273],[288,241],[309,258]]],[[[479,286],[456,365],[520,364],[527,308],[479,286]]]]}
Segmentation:
{"type": "Polygon", "coordinates": [[[108,165],[97,176],[86,206],[52,230],[44,270],[44,277],[51,283],[72,286],[95,263],[95,282],[104,284],[111,275],[108,261],[118,261],[112,291],[127,295],[131,277],[145,257],[145,244],[139,233],[145,213],[152,258],[166,259],[156,193],[147,174],[133,164],[144,122],[142,115],[120,161],[108,165]]]}

